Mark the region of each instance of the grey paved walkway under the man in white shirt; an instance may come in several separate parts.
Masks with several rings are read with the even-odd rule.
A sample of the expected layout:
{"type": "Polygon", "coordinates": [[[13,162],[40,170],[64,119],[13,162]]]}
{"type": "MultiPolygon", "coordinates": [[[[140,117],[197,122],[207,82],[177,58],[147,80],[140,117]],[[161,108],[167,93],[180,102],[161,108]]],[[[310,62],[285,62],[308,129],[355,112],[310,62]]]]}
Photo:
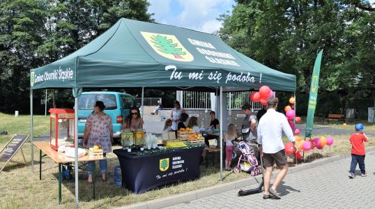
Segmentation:
{"type": "Polygon", "coordinates": [[[263,200],[263,194],[238,197],[231,190],[168,208],[374,208],[375,151],[365,159],[367,177],[349,179],[350,162],[347,157],[287,175],[278,188],[281,200],[263,200]]]}

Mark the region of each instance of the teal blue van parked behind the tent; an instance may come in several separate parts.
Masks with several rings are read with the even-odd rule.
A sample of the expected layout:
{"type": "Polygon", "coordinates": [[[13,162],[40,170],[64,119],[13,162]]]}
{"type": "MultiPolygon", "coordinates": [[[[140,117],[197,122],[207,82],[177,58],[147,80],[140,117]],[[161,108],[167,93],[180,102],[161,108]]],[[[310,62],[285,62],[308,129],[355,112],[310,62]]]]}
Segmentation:
{"type": "Polygon", "coordinates": [[[114,138],[121,138],[123,118],[130,114],[134,105],[134,98],[128,93],[114,91],[88,91],[78,98],[78,137],[84,137],[86,119],[93,111],[95,101],[102,101],[105,105],[105,114],[111,116],[114,127],[114,138]]]}

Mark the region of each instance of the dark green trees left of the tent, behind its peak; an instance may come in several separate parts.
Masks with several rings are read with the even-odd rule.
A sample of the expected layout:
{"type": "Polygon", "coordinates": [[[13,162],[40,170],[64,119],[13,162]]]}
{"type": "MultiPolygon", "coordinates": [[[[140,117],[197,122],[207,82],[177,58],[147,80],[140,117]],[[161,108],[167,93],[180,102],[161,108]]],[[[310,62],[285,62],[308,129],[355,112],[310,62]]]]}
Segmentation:
{"type": "MultiPolygon", "coordinates": [[[[0,1],[0,111],[29,113],[29,70],[52,63],[89,43],[121,17],[153,22],[146,0],[0,1]]],[[[51,92],[51,91],[49,91],[51,92]]],[[[44,112],[45,91],[34,91],[44,112]]],[[[56,105],[70,107],[71,90],[56,91],[56,105]]]]}

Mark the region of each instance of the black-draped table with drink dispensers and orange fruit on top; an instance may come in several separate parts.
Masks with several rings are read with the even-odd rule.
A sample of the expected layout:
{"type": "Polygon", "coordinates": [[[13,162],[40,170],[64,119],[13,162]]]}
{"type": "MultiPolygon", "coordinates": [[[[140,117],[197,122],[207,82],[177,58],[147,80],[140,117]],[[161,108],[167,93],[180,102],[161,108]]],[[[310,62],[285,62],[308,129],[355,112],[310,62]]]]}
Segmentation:
{"type": "Polygon", "coordinates": [[[114,150],[121,166],[122,185],[135,194],[200,177],[204,138],[194,131],[164,134],[123,130],[123,148],[114,150]],[[132,134],[131,134],[132,133],[132,134]]]}

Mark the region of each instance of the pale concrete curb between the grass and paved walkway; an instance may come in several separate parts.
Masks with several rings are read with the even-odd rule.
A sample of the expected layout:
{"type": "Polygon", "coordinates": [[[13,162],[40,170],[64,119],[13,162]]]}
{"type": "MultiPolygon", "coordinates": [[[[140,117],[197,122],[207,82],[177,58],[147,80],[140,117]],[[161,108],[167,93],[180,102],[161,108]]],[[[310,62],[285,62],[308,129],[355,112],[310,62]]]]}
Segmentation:
{"type": "MultiPolygon", "coordinates": [[[[369,147],[369,148],[366,149],[367,153],[372,152],[372,151],[375,151],[375,146],[372,146],[372,147],[369,147]]],[[[328,157],[326,159],[310,162],[310,163],[307,163],[307,164],[300,164],[297,167],[289,167],[288,174],[298,173],[300,171],[305,171],[306,169],[312,169],[312,168],[315,168],[315,167],[319,167],[323,164],[327,164],[327,163],[330,163],[330,162],[342,160],[342,159],[344,159],[346,157],[349,157],[349,156],[351,156],[350,153],[345,154],[345,155],[336,155],[336,156],[328,157]]],[[[275,178],[275,176],[276,176],[275,173],[273,173],[272,178],[275,178]]],[[[185,193],[182,193],[182,194],[176,194],[174,196],[167,196],[167,197],[164,197],[164,198],[161,198],[161,199],[155,199],[155,200],[152,200],[152,201],[146,201],[146,202],[143,202],[143,203],[133,204],[133,205],[130,205],[130,206],[123,206],[121,208],[134,208],[134,209],[164,208],[164,207],[168,207],[168,206],[174,206],[174,205],[177,205],[179,203],[194,201],[194,200],[197,200],[197,199],[201,199],[202,197],[211,196],[213,194],[219,194],[219,193],[222,193],[222,192],[227,192],[227,191],[233,190],[233,189],[241,189],[243,187],[247,187],[247,186],[250,186],[250,185],[257,184],[257,183],[261,183],[261,176],[257,176],[257,177],[254,177],[254,178],[243,178],[243,179],[236,180],[236,181],[229,182],[229,183],[220,183],[220,184],[214,185],[212,187],[197,189],[197,190],[185,192],[185,193]]]]}

